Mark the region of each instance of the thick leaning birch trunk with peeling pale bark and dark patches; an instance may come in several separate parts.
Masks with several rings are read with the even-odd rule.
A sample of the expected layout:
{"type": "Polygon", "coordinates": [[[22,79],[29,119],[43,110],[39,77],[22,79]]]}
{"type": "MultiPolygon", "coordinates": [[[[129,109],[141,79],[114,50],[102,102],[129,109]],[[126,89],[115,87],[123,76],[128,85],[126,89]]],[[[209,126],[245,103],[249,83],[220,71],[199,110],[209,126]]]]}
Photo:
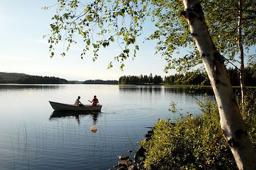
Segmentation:
{"type": "Polygon", "coordinates": [[[218,104],[221,129],[234,155],[237,167],[256,169],[256,153],[239,113],[223,56],[216,50],[205,25],[202,7],[196,0],[182,2],[185,9],[182,15],[188,21],[196,47],[202,56],[218,104]]]}

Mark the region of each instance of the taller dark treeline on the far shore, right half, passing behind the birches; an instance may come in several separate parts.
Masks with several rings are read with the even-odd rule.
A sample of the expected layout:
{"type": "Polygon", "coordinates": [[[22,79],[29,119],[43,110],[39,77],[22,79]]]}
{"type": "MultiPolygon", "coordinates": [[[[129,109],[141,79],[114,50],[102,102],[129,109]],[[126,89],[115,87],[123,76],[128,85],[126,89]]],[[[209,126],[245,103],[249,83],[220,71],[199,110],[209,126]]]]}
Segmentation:
{"type": "MultiPolygon", "coordinates": [[[[239,69],[228,68],[228,75],[232,85],[239,86],[239,69]]],[[[245,68],[245,84],[246,86],[256,86],[256,73],[250,67],[245,68]]],[[[184,74],[174,74],[171,76],[152,76],[150,74],[140,76],[121,76],[119,84],[164,84],[164,85],[211,85],[207,73],[204,71],[189,71],[184,74]]]]}

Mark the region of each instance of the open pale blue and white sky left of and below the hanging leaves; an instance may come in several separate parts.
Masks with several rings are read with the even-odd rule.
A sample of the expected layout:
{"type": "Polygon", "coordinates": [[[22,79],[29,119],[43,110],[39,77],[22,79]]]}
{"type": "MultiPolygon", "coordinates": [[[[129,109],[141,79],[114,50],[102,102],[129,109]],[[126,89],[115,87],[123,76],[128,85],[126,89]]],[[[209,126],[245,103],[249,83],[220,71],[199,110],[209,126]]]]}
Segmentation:
{"type": "Polygon", "coordinates": [[[118,80],[124,75],[150,73],[153,76],[168,75],[164,73],[166,61],[160,55],[155,55],[156,44],[150,41],[140,45],[134,60],[131,57],[125,61],[124,71],[120,70],[118,62],[114,62],[113,68],[107,69],[115,57],[113,53],[120,52],[118,46],[101,50],[95,62],[92,52],[87,53],[84,59],[79,57],[82,44],[72,46],[65,57],[55,55],[51,58],[47,38],[43,36],[51,33],[49,24],[55,10],[42,10],[42,7],[54,3],[54,0],[0,0],[0,72],[56,76],[78,81],[118,80]]]}

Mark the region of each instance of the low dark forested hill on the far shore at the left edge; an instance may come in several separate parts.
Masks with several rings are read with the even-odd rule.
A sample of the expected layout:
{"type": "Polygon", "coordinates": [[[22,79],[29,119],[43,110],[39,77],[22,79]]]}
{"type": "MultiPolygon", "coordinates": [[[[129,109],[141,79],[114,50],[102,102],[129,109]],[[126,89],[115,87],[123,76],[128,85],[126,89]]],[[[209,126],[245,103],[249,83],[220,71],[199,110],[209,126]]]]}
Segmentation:
{"type": "Polygon", "coordinates": [[[64,84],[67,80],[49,76],[31,76],[23,73],[0,73],[0,83],[64,84]]]}

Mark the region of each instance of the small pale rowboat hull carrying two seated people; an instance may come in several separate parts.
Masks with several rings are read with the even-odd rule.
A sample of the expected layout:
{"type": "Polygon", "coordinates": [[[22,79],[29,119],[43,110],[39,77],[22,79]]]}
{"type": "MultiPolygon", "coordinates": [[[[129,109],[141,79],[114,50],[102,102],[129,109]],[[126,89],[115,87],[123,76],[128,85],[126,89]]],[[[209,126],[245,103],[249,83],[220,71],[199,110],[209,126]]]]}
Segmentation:
{"type": "Polygon", "coordinates": [[[49,103],[55,111],[100,111],[102,108],[101,104],[97,104],[97,106],[92,106],[92,104],[76,106],[74,104],[56,103],[53,101],[49,101],[49,103]]]}

